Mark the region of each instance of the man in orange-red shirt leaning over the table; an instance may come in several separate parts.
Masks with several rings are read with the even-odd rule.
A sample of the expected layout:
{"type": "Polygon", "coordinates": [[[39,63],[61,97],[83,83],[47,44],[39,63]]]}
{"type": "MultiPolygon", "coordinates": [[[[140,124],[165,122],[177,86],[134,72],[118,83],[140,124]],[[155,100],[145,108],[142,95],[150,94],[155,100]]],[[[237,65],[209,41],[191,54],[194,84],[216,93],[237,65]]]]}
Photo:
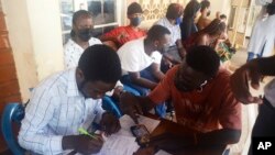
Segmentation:
{"type": "Polygon", "coordinates": [[[241,135],[241,104],[231,91],[230,74],[219,65],[219,56],[211,47],[193,47],[148,96],[123,93],[121,109],[135,119],[136,112],[147,112],[170,98],[177,123],[199,132],[189,144],[237,143],[241,135]]]}

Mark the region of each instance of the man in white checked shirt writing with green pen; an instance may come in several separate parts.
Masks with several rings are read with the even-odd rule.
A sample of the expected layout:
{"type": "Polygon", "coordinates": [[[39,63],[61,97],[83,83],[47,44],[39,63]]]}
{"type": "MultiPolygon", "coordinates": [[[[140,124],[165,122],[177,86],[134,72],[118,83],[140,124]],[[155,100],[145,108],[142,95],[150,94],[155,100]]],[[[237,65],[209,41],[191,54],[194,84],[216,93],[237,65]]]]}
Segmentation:
{"type": "Polygon", "coordinates": [[[33,91],[19,132],[19,144],[36,154],[97,153],[103,145],[100,135],[79,135],[99,123],[107,134],[118,132],[118,119],[101,108],[101,98],[121,77],[120,59],[106,45],[88,47],[78,67],[55,74],[33,91]],[[106,63],[108,62],[108,63],[106,63]]]}

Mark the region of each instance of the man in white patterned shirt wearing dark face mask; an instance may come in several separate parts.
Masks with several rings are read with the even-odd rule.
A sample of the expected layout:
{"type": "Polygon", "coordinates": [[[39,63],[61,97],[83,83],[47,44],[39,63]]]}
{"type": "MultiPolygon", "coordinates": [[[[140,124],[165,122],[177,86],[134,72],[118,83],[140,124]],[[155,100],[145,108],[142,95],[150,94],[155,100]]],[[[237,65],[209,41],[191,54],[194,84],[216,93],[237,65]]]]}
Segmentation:
{"type": "Polygon", "coordinates": [[[64,45],[64,63],[66,68],[76,67],[84,49],[95,44],[102,44],[92,37],[94,23],[90,12],[79,10],[73,15],[73,30],[68,42],[64,45]]]}

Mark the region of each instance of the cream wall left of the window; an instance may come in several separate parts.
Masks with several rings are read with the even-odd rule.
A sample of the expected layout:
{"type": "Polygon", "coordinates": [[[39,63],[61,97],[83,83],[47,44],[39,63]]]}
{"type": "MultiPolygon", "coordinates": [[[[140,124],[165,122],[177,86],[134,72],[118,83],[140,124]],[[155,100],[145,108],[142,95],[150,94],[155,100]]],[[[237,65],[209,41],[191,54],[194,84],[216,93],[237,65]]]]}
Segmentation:
{"type": "Polygon", "coordinates": [[[23,101],[46,76],[63,69],[58,0],[2,0],[23,101]]]}

